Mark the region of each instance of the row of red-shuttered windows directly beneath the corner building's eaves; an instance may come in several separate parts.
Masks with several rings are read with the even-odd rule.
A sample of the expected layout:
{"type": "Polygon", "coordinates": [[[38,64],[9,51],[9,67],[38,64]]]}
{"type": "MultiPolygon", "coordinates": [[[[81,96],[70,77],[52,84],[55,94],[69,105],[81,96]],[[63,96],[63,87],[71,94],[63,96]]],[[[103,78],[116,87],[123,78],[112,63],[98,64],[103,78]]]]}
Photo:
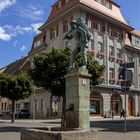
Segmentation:
{"type": "MultiPolygon", "coordinates": [[[[67,19],[63,19],[63,33],[67,32],[70,29],[69,23],[73,20],[73,16],[70,16],[67,19]]],[[[119,40],[124,39],[123,30],[117,26],[111,25],[104,20],[101,20],[95,16],[87,14],[86,16],[86,25],[89,29],[96,30],[99,33],[107,33],[110,37],[117,38],[119,40]]],[[[55,25],[50,29],[50,40],[59,36],[59,24],[55,25]]]]}

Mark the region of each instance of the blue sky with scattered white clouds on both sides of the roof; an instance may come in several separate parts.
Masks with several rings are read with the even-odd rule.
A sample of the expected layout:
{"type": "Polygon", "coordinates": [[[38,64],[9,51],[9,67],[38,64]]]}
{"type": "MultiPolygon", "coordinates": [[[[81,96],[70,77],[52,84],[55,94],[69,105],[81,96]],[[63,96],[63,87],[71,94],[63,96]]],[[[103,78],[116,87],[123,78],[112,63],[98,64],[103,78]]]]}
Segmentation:
{"type": "MultiPolygon", "coordinates": [[[[0,0],[0,68],[28,55],[37,28],[57,0],[0,0]]],[[[128,23],[140,31],[140,0],[114,0],[128,23]]]]}

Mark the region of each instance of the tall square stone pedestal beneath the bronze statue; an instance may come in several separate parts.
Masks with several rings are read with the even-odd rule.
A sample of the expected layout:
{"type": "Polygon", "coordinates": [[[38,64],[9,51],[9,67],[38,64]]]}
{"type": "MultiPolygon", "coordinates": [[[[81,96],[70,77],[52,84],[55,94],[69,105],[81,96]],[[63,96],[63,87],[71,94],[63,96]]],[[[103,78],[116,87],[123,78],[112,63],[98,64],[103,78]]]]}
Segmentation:
{"type": "Polygon", "coordinates": [[[89,129],[90,109],[90,77],[87,69],[71,70],[65,76],[66,79],[66,109],[71,104],[73,111],[65,114],[66,128],[89,129]]]}

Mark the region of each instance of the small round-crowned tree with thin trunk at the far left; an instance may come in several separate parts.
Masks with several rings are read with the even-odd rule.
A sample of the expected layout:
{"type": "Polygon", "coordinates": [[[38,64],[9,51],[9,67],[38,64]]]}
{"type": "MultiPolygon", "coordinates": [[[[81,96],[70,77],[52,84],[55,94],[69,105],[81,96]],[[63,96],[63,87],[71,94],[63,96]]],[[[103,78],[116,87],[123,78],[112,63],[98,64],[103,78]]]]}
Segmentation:
{"type": "Polygon", "coordinates": [[[10,76],[0,74],[1,96],[12,101],[12,122],[15,118],[15,101],[25,99],[32,93],[32,81],[27,74],[10,76]]]}

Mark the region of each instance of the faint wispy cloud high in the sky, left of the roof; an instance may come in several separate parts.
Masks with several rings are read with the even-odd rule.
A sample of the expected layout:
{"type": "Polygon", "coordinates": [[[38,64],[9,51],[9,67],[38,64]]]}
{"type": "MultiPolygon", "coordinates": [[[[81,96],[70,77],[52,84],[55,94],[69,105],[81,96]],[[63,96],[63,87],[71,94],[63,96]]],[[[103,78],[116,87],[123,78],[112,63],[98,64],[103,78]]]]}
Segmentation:
{"type": "Polygon", "coordinates": [[[32,5],[27,5],[24,9],[20,9],[20,16],[23,18],[30,18],[33,20],[38,20],[44,14],[41,8],[34,7],[32,5]]]}

